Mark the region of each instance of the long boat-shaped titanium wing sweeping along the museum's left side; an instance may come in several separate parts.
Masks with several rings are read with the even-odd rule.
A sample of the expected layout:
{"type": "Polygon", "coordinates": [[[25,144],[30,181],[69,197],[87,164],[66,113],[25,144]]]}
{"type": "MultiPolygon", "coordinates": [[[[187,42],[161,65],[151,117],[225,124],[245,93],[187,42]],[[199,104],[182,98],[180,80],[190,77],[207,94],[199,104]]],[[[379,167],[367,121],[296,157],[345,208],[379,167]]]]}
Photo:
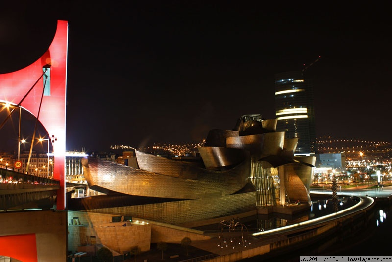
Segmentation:
{"type": "MultiPolygon", "coordinates": [[[[161,160],[157,159],[160,157],[153,155],[144,157],[148,159],[150,166],[157,165],[161,160]]],[[[176,160],[171,161],[176,162],[176,160]]],[[[176,173],[177,164],[180,162],[168,164],[167,171],[173,167],[177,170],[172,173],[176,173]]],[[[183,164],[184,170],[187,174],[191,174],[193,179],[182,174],[178,174],[177,177],[157,174],[95,157],[84,158],[82,165],[86,181],[93,190],[107,189],[129,195],[176,199],[221,197],[233,194],[248,183],[250,172],[248,158],[227,171],[213,171],[183,164]]]]}

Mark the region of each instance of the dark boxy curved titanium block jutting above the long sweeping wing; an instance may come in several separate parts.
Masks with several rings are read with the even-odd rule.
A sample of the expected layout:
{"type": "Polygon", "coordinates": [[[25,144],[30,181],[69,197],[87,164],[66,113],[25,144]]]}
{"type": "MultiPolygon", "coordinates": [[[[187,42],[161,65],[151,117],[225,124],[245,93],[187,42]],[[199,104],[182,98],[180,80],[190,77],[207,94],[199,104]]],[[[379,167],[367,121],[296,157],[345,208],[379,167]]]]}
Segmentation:
{"type": "Polygon", "coordinates": [[[245,150],[227,147],[199,147],[200,156],[207,169],[237,165],[250,157],[245,150]]]}

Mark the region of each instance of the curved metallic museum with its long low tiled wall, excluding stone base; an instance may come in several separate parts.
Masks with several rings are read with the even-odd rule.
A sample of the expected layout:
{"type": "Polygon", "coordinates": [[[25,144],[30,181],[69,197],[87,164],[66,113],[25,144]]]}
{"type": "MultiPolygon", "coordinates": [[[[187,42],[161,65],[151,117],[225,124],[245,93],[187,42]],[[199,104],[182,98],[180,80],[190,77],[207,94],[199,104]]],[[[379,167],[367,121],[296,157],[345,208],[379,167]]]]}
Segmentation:
{"type": "Polygon", "coordinates": [[[108,196],[113,192],[137,196],[141,202],[148,200],[148,205],[102,210],[99,204],[104,199],[100,198],[94,204],[74,207],[174,225],[256,209],[259,213],[290,212],[289,204],[298,201],[309,208],[315,157],[294,157],[297,139],[284,138],[284,132],[275,132],[275,128],[276,119],[244,115],[236,130],[209,131],[204,146],[198,148],[199,161],[138,150],[134,155],[124,154],[120,160],[124,164],[85,157],[83,173],[90,190],[108,196]],[[132,161],[126,164],[124,158],[132,161]],[[287,210],[278,210],[282,207],[287,210]]]}

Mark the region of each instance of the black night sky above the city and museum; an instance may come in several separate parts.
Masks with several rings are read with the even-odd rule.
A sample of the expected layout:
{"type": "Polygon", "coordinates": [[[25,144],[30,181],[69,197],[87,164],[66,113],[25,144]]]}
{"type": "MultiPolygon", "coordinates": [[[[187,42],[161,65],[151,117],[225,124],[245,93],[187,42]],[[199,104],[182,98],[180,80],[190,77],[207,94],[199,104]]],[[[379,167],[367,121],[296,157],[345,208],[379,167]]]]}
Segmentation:
{"type": "Polygon", "coordinates": [[[56,21],[69,23],[67,150],[196,143],[244,114],[275,118],[274,74],[319,56],[305,71],[317,137],[392,141],[387,6],[121,2],[1,8],[0,73],[34,62],[56,21]]]}

